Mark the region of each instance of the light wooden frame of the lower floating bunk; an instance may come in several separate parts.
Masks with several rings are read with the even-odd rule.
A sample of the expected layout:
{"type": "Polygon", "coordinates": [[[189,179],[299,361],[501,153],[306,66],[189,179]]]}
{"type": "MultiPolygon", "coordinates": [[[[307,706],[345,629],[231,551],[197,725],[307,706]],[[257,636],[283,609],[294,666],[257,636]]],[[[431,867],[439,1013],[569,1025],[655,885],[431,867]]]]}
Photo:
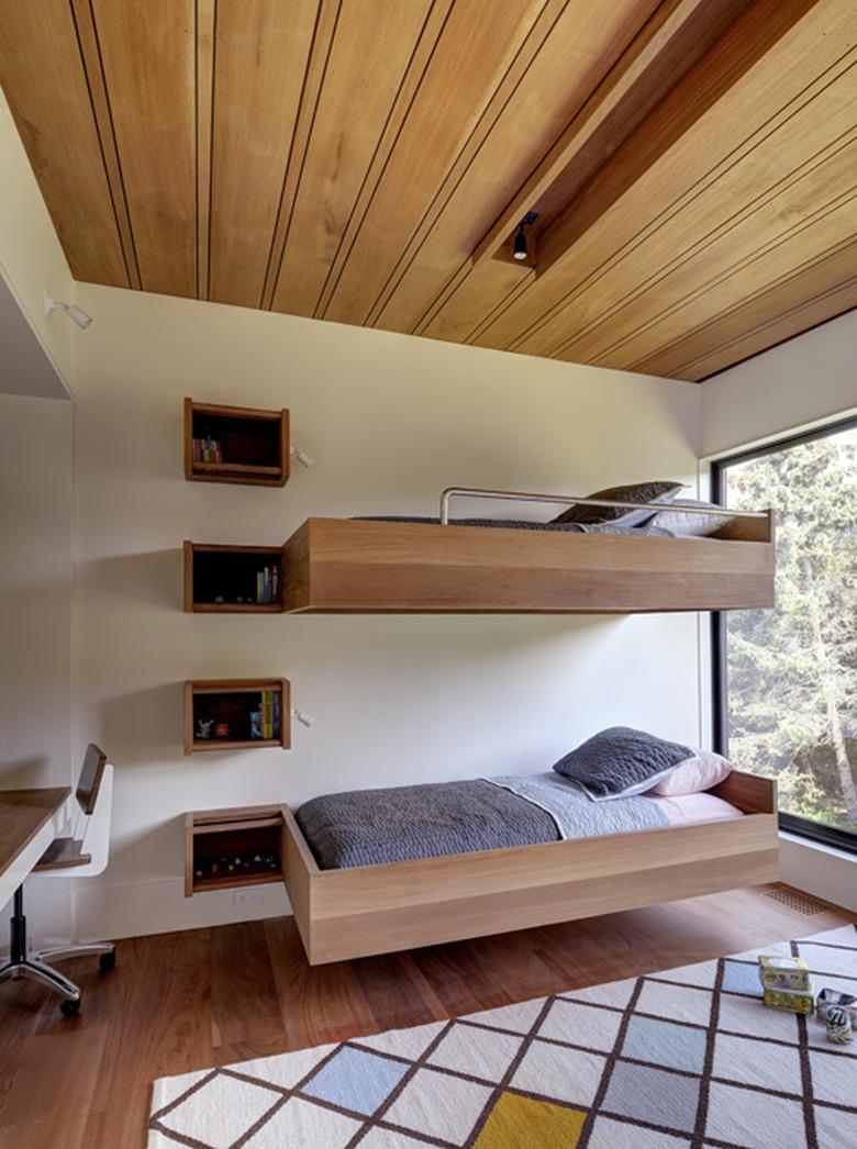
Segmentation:
{"type": "Polygon", "coordinates": [[[777,784],[712,793],[743,818],[319,870],[283,808],[284,880],[310,965],[696,897],[779,877],[777,784]]]}

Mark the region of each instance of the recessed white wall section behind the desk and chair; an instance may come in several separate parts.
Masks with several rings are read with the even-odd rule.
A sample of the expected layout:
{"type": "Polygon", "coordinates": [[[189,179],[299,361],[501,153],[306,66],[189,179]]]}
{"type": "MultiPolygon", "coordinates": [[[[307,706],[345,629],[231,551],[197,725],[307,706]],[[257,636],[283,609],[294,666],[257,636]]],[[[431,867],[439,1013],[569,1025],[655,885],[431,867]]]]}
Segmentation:
{"type": "MultiPolygon", "coordinates": [[[[0,395],[0,789],[67,786],[71,403],[0,395]]],[[[40,885],[28,897],[32,928],[62,936],[70,884],[40,885]]]]}

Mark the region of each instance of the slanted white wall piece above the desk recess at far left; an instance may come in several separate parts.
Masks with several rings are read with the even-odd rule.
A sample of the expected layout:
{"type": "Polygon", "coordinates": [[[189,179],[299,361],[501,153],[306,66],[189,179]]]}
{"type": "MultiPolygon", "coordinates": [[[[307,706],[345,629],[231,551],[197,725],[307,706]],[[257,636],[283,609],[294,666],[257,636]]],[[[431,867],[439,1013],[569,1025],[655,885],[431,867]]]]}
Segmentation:
{"type": "MultiPolygon", "coordinates": [[[[51,216],[0,90],[0,279],[21,310],[67,387],[74,375],[74,325],[64,316],[45,319],[45,288],[70,302],[71,279],[51,216]]],[[[0,329],[2,338],[2,329],[0,329]]],[[[0,354],[0,372],[7,357],[0,354]]],[[[13,391],[2,386],[0,391],[13,391]]]]}

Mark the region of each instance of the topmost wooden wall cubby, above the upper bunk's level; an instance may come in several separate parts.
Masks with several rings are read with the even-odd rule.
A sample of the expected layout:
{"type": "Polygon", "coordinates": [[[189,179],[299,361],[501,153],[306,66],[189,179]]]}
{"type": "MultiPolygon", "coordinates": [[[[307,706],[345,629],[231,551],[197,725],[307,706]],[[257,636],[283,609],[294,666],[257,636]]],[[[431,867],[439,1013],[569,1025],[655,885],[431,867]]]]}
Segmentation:
{"type": "Polygon", "coordinates": [[[288,411],[185,399],[185,477],[281,487],[288,481],[288,411]]]}

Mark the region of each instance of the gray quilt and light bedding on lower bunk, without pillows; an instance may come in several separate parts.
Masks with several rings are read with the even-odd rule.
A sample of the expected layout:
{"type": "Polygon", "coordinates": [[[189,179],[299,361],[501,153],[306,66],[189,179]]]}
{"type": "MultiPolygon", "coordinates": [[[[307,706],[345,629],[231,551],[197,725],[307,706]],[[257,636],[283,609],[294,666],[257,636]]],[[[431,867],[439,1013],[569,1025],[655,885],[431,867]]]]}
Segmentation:
{"type": "Polygon", "coordinates": [[[511,779],[433,782],[326,794],[304,802],[295,819],[322,870],[534,846],[634,830],[742,817],[713,794],[642,795],[590,802],[558,776],[527,776],[530,797],[511,779]],[[550,801],[532,787],[549,778],[550,801]],[[562,791],[566,800],[562,801],[562,791]]]}

